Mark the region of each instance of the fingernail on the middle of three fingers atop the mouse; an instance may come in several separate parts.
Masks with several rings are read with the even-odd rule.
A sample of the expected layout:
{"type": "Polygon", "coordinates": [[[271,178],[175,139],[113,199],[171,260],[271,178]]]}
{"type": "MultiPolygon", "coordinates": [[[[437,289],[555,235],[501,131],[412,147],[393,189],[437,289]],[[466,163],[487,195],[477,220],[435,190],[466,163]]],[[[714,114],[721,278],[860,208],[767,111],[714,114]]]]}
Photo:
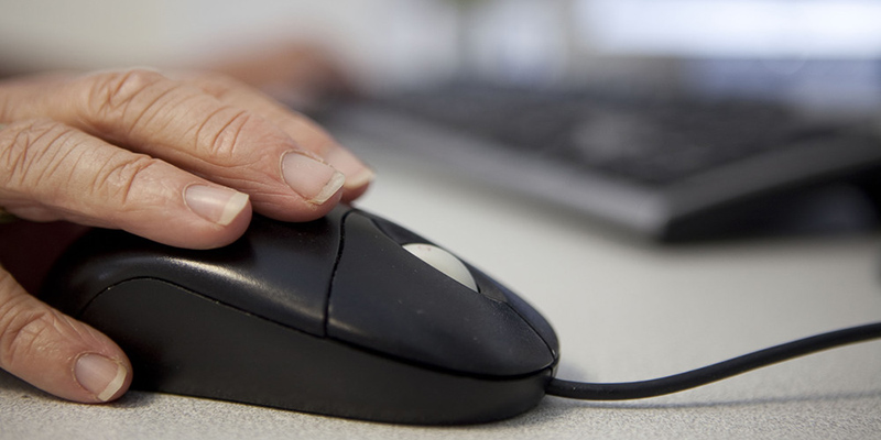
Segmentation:
{"type": "Polygon", "coordinates": [[[318,160],[300,152],[282,156],[284,182],[309,204],[322,205],[342,188],[346,176],[318,160]]]}

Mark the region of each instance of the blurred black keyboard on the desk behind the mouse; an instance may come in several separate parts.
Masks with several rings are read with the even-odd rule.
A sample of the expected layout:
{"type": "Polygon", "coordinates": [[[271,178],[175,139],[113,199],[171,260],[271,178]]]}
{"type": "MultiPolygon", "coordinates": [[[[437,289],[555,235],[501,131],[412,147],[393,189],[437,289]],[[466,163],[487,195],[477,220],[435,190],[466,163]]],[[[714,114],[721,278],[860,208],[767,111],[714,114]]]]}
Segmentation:
{"type": "Polygon", "coordinates": [[[345,103],[319,119],[663,241],[878,218],[881,122],[868,118],[730,98],[454,85],[345,103]]]}

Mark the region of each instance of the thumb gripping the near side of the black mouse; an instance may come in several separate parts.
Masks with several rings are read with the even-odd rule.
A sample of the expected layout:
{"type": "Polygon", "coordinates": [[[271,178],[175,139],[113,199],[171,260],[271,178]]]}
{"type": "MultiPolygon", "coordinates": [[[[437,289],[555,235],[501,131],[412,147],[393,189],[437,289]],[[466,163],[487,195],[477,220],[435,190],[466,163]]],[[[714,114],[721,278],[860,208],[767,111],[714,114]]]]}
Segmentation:
{"type": "Polygon", "coordinates": [[[120,348],[29,295],[0,267],[0,367],[69,400],[102,403],[131,384],[120,348]]]}

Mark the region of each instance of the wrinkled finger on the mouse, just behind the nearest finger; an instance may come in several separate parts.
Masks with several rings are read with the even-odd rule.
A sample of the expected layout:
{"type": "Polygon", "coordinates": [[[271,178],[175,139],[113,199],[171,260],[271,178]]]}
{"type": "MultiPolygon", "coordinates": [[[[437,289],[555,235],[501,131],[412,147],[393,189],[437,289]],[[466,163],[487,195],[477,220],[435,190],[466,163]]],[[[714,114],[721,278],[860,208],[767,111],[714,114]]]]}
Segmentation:
{"type": "MultiPolygon", "coordinates": [[[[269,118],[225,102],[182,81],[149,70],[101,73],[76,80],[43,80],[19,87],[6,106],[12,119],[48,116],[113,144],[162,158],[210,180],[250,195],[254,208],[281,220],[323,216],[342,198],[346,178],[328,165],[334,148],[304,140],[304,147],[269,118]],[[53,92],[45,92],[51,87],[53,92]],[[11,109],[11,110],[9,110],[11,109]]],[[[7,116],[10,118],[10,116],[7,116]]],[[[289,124],[290,125],[290,124],[289,124]]],[[[294,131],[303,130],[294,128],[294,131]]],[[[329,138],[328,138],[329,139],[329,138]]],[[[345,156],[345,154],[344,154],[345,156]]],[[[348,190],[348,198],[366,184],[348,190]]]]}

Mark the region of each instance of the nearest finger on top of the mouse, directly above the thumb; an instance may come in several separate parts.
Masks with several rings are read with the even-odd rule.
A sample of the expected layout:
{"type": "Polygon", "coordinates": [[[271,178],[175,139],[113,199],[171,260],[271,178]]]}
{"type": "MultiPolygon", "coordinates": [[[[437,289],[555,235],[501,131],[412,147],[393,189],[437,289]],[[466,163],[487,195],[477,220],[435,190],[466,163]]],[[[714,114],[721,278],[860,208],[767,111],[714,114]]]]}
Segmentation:
{"type": "Polygon", "coordinates": [[[242,193],[45,120],[0,131],[0,206],[195,249],[230,243],[251,218],[242,193]]]}

